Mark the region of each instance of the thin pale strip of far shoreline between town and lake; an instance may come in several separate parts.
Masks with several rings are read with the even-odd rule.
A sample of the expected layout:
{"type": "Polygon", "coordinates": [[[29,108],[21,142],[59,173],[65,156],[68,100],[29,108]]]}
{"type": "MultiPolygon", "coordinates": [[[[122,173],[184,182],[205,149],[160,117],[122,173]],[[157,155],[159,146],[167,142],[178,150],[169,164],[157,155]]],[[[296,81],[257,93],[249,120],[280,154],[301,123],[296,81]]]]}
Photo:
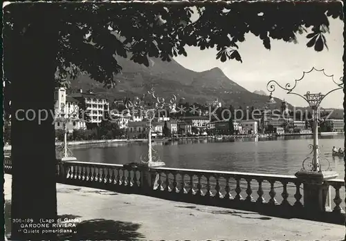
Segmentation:
{"type": "MultiPolygon", "coordinates": [[[[337,133],[334,135],[341,135],[343,133],[337,133]]],[[[261,137],[261,138],[273,138],[273,137],[283,137],[283,136],[292,136],[292,135],[312,135],[312,133],[289,133],[284,135],[274,135],[272,137],[262,137],[261,134],[258,135],[219,135],[219,136],[198,136],[198,137],[178,137],[177,139],[239,139],[239,138],[255,138],[255,137],[261,137]]],[[[321,135],[321,133],[318,133],[318,135],[321,135]]],[[[172,138],[162,138],[162,139],[152,139],[152,142],[167,142],[172,140],[172,138]]],[[[95,140],[89,140],[89,141],[72,141],[67,142],[69,146],[88,146],[88,145],[95,145],[95,144],[114,144],[114,143],[133,143],[133,142],[147,142],[147,139],[95,139],[95,140]]],[[[62,144],[63,142],[55,142],[55,146],[58,146],[62,144]]],[[[4,145],[3,151],[11,151],[12,146],[10,145],[4,145]]]]}

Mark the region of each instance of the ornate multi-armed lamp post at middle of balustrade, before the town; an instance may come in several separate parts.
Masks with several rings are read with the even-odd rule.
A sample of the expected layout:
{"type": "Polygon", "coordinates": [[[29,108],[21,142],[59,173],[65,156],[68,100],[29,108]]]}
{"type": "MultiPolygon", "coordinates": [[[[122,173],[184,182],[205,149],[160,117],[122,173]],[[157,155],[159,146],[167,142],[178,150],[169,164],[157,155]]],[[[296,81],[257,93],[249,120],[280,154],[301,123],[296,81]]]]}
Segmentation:
{"type": "Polygon", "coordinates": [[[163,97],[157,97],[154,88],[152,88],[150,91],[147,91],[147,95],[143,95],[141,99],[135,97],[133,102],[127,101],[125,106],[128,109],[137,109],[140,113],[145,113],[147,118],[148,151],[147,155],[140,156],[140,164],[145,164],[147,166],[164,166],[165,163],[160,160],[160,157],[157,155],[154,148],[152,148],[152,131],[154,131],[152,122],[155,118],[155,114],[165,108],[168,108],[170,113],[176,113],[176,96],[173,95],[166,101],[163,97]]]}

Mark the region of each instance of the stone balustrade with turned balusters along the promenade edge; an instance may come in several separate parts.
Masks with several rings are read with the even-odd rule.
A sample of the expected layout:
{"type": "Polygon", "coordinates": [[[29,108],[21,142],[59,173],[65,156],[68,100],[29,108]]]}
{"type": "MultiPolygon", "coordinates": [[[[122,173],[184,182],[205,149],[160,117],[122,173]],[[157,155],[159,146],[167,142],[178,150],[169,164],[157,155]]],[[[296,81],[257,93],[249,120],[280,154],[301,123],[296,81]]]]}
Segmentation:
{"type": "MultiPolygon", "coordinates": [[[[10,158],[5,158],[5,173],[11,173],[10,158]]],[[[57,181],[127,193],[152,195],[181,202],[192,202],[233,209],[304,213],[303,183],[294,175],[271,175],[182,168],[143,168],[136,165],[93,162],[58,162],[57,181]],[[151,176],[145,179],[147,176],[151,176]]],[[[327,180],[329,199],[324,213],[337,222],[345,220],[343,180],[327,180]],[[341,195],[341,193],[343,195],[341,195]]],[[[284,214],[284,215],[286,215],[284,214]]],[[[311,213],[309,213],[311,215],[311,213]]]]}

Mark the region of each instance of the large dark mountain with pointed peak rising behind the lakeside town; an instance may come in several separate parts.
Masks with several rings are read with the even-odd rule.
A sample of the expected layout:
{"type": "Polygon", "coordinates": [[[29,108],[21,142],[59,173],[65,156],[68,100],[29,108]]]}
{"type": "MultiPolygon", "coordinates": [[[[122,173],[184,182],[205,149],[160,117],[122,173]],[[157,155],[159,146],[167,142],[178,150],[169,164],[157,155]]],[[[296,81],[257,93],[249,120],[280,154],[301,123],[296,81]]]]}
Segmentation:
{"type": "MultiPolygon", "coordinates": [[[[142,96],[154,87],[158,96],[169,97],[174,94],[177,99],[184,97],[186,102],[200,104],[218,98],[226,106],[232,104],[235,108],[239,106],[262,108],[268,101],[267,96],[251,93],[228,79],[219,68],[199,73],[184,68],[174,59],[167,62],[150,58],[149,67],[136,64],[129,59],[121,57],[117,59],[118,64],[122,66],[122,74],[116,75],[118,83],[115,88],[104,88],[102,83],[94,81],[88,75],[81,75],[71,81],[72,89],[93,90],[113,100],[142,96]]],[[[280,99],[277,101],[279,103],[271,108],[280,106],[280,99]]]]}

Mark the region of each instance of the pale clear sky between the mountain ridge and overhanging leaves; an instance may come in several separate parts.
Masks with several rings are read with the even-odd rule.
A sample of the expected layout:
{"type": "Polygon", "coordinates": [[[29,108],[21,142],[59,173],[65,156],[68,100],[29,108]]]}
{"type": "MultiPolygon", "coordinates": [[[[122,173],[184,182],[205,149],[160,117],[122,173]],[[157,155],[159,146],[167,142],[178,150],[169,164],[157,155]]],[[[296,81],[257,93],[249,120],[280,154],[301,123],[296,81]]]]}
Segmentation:
{"type": "MultiPolygon", "coordinates": [[[[190,70],[202,72],[219,67],[224,74],[240,86],[253,92],[264,90],[268,81],[275,80],[282,86],[293,85],[295,79],[300,79],[303,72],[311,68],[324,69],[327,75],[334,75],[334,80],[340,83],[343,76],[343,21],[329,19],[330,33],[326,34],[328,50],[316,52],[307,48],[307,33],[298,35],[298,44],[286,43],[271,39],[271,50],[266,50],[261,39],[251,33],[245,36],[246,41],[239,43],[239,53],[243,63],[228,60],[224,63],[216,59],[216,49],[199,50],[197,47],[186,47],[188,57],[183,55],[174,59],[190,70]]],[[[325,77],[322,72],[313,71],[298,82],[295,92],[304,95],[311,93],[326,94],[337,88],[331,77],[325,77]]],[[[273,96],[284,99],[293,106],[307,106],[304,99],[289,95],[284,90],[276,88],[273,96]]],[[[343,90],[336,90],[322,101],[323,108],[343,108],[343,90]]]]}

